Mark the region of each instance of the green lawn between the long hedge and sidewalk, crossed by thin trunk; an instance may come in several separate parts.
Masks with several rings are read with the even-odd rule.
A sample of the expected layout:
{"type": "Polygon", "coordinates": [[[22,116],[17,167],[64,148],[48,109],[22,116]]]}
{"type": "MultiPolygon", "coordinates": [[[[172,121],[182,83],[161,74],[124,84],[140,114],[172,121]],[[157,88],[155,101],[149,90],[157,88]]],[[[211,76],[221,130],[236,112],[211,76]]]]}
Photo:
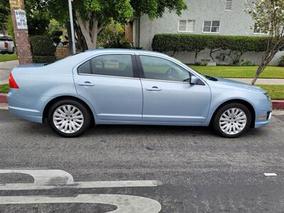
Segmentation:
{"type": "MultiPolygon", "coordinates": [[[[242,77],[251,78],[256,73],[257,66],[234,67],[234,66],[196,66],[190,65],[193,69],[201,72],[203,75],[212,75],[216,77],[242,77]]],[[[261,78],[284,78],[284,67],[266,67],[261,74],[261,78]]]]}

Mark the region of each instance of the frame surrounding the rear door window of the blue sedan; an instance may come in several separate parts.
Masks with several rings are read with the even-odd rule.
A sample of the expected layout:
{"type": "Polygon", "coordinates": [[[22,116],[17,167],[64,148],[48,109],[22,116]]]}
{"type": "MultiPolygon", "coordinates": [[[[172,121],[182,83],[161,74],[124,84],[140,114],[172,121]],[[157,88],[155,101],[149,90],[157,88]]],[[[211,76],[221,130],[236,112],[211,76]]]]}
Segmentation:
{"type": "Polygon", "coordinates": [[[135,54],[133,54],[133,53],[102,53],[102,54],[95,55],[93,57],[87,58],[87,60],[80,62],[80,64],[77,65],[75,69],[77,70],[77,75],[84,75],[84,76],[89,75],[89,76],[98,76],[98,77],[116,77],[116,78],[126,78],[126,79],[140,79],[135,54]],[[91,62],[94,58],[104,56],[104,55],[130,55],[131,56],[131,62],[132,62],[133,77],[122,77],[122,76],[116,76],[116,75],[98,75],[98,74],[92,74],[92,73],[88,74],[88,73],[80,73],[79,72],[79,67],[81,65],[83,65],[85,62],[91,62]]]}

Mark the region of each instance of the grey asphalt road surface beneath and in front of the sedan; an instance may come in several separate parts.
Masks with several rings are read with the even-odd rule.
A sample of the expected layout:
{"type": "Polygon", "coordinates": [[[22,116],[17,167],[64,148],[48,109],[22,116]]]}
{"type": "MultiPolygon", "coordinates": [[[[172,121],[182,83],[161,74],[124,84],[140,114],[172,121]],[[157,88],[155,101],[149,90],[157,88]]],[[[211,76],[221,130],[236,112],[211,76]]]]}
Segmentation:
{"type": "MultiPolygon", "coordinates": [[[[75,182],[157,180],[159,184],[0,190],[0,196],[135,195],[159,202],[161,212],[284,212],[283,145],[281,115],[273,116],[269,126],[236,139],[220,138],[208,128],[176,126],[97,126],[80,138],[67,139],[55,135],[48,124],[19,121],[2,109],[0,168],[64,170],[75,182]]],[[[33,178],[0,174],[0,189],[8,182],[33,182],[33,178]]],[[[114,209],[92,203],[0,204],[0,212],[114,209]]]]}

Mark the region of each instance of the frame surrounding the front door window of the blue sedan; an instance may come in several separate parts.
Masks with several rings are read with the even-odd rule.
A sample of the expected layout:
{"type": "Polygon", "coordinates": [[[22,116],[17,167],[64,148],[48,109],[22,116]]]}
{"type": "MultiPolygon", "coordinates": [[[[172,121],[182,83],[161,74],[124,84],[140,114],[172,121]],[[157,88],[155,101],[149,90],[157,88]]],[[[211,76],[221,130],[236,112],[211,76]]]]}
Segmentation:
{"type": "MultiPolygon", "coordinates": [[[[186,70],[189,73],[190,78],[192,76],[192,73],[190,72],[190,70],[185,69],[185,67],[180,66],[174,60],[169,60],[168,58],[159,57],[158,55],[138,54],[138,55],[136,55],[136,61],[137,61],[138,70],[140,72],[141,80],[149,80],[149,81],[155,81],[155,82],[171,82],[171,83],[176,83],[176,84],[190,84],[190,82],[179,82],[179,81],[169,81],[169,80],[158,80],[158,79],[146,78],[145,74],[144,74],[143,65],[142,65],[140,56],[160,58],[160,59],[163,59],[163,60],[168,60],[169,62],[173,62],[176,66],[180,67],[183,70],[186,70]]],[[[202,82],[203,82],[203,80],[202,80],[202,82]]]]}

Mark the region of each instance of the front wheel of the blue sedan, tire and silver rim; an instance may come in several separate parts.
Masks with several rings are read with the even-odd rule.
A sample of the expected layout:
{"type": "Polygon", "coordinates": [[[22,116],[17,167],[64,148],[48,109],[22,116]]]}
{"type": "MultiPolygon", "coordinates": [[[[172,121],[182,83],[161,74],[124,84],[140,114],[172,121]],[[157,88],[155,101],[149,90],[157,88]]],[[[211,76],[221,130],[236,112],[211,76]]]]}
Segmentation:
{"type": "Polygon", "coordinates": [[[249,130],[251,112],[244,104],[229,103],[218,109],[212,125],[220,136],[237,138],[249,130]]]}

